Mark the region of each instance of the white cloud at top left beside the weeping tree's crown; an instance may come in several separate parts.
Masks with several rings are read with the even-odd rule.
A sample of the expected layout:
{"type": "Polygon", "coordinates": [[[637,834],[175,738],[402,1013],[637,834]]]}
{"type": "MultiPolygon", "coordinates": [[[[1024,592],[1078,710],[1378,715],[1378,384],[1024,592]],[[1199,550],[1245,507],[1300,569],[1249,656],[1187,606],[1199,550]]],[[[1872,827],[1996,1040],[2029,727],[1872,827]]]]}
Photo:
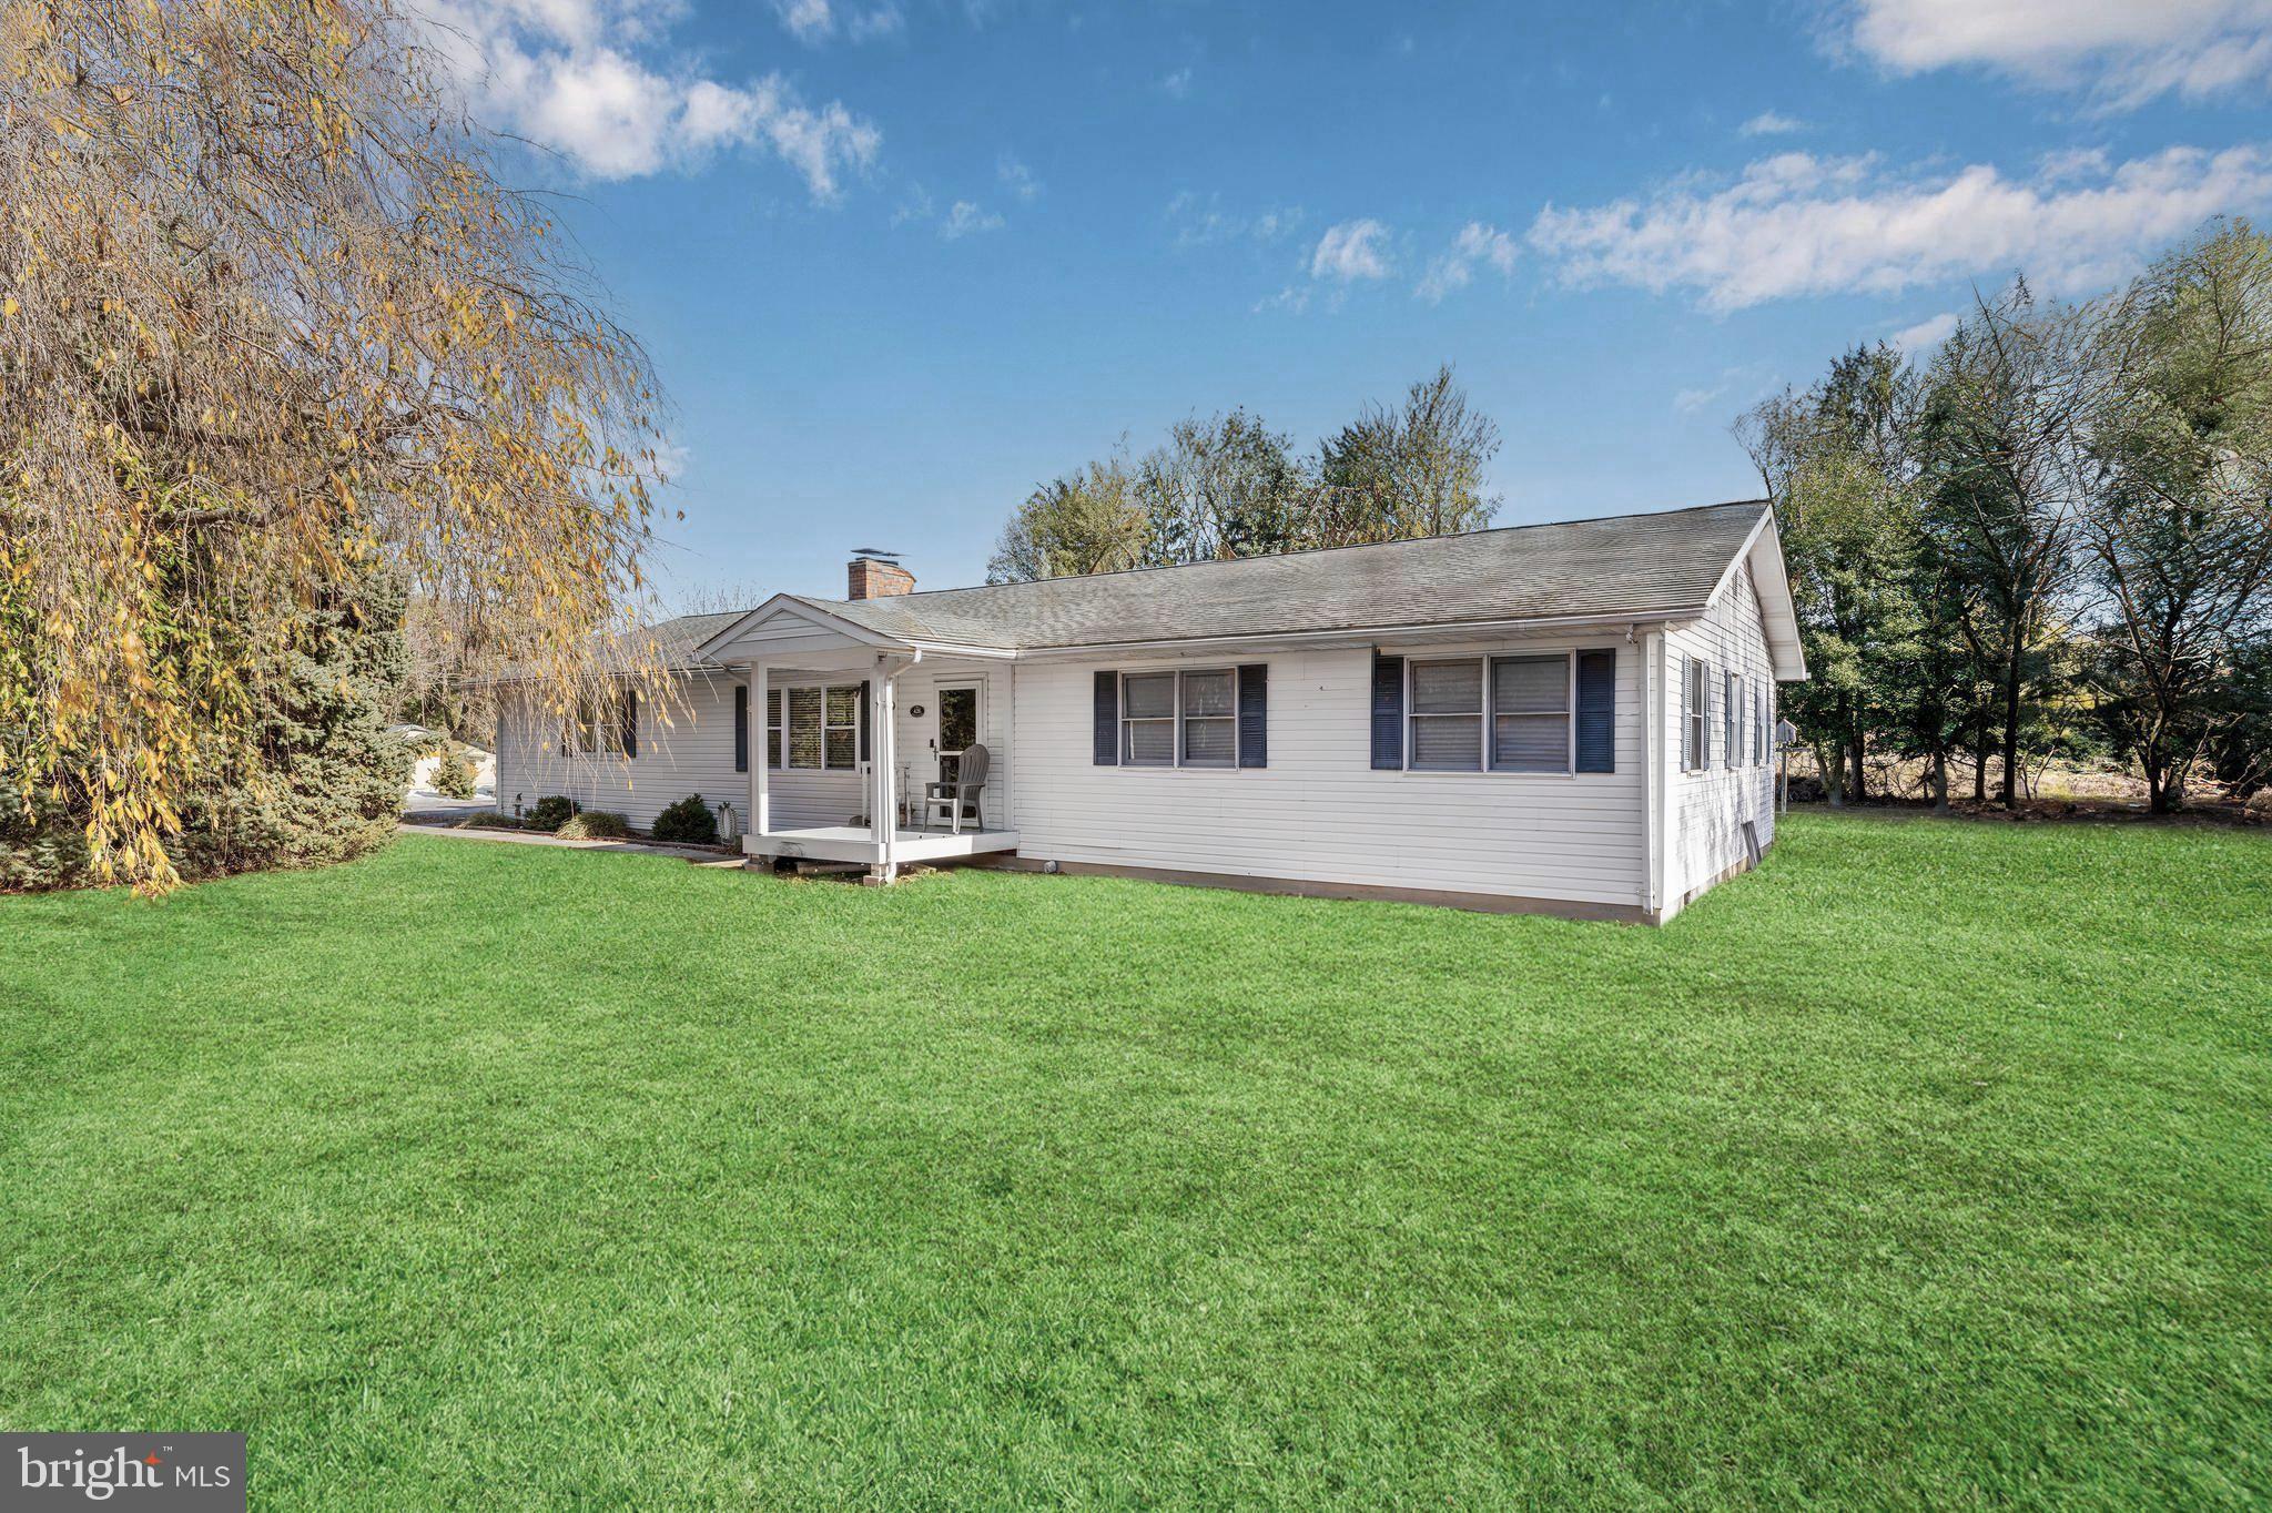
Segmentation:
{"type": "Polygon", "coordinates": [[[884,134],[841,102],[807,107],[782,75],[713,80],[670,48],[673,0],[429,0],[427,45],[488,125],[625,179],[754,148],[816,200],[875,164],[884,134]]]}

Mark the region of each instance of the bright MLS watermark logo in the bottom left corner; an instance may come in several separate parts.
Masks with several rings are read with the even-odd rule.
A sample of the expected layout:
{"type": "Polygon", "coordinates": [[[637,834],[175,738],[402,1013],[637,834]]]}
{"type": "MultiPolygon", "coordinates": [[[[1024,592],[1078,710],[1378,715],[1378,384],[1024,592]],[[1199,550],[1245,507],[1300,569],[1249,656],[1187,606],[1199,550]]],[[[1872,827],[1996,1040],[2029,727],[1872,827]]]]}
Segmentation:
{"type": "Polygon", "coordinates": [[[0,1499],[11,1513],[43,1508],[166,1508],[245,1513],[241,1433],[7,1433],[0,1499]]]}

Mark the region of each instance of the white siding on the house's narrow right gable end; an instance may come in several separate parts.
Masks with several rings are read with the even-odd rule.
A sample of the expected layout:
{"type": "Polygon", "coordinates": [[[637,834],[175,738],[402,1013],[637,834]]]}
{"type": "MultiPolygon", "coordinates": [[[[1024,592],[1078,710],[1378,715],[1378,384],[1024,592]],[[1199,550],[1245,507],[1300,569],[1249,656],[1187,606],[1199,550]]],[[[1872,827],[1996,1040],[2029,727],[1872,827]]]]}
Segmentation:
{"type": "Polygon", "coordinates": [[[1768,729],[1774,729],[1774,668],[1768,659],[1749,566],[1736,570],[1702,620],[1686,620],[1668,632],[1665,652],[1663,752],[1670,784],[1665,913],[1670,916],[1729,868],[1749,859],[1745,820],[1752,822],[1761,850],[1774,841],[1774,763],[1752,761],[1749,711],[1752,691],[1763,691],[1768,729]],[[1704,679],[1709,718],[1702,772],[1684,770],[1681,754],[1681,677],[1693,657],[1711,668],[1704,679]],[[1734,763],[1727,752],[1724,672],[1738,672],[1745,684],[1743,750],[1734,763]]]}

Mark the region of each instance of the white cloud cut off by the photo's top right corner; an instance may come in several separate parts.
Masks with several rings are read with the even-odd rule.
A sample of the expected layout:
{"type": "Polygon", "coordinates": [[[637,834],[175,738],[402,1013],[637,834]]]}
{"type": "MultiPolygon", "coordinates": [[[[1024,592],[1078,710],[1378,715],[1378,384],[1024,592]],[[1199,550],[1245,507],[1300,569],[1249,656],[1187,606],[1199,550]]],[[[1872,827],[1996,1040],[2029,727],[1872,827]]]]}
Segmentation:
{"type": "Polygon", "coordinates": [[[2272,0],[1849,0],[1845,39],[1895,73],[1979,66],[2115,109],[2272,82],[2272,0]]]}

